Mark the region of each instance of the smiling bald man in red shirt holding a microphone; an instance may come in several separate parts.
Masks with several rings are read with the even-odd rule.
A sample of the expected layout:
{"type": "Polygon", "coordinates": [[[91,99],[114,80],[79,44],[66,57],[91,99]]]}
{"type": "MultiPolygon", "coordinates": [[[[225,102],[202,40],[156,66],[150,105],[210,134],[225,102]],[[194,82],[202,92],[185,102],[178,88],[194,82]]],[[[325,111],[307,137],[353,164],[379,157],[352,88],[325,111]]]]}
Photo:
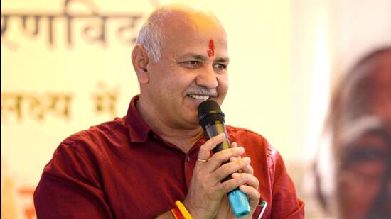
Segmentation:
{"type": "Polygon", "coordinates": [[[303,218],[282,158],[262,136],[228,126],[234,147],[211,155],[224,135],[207,140],[197,108],[207,99],[221,105],[227,94],[227,36],[217,18],[166,6],[137,44],[139,96],[124,118],[60,144],[35,192],[38,217],[177,218],[178,207],[192,218],[234,218],[226,194],[239,187],[249,198],[247,218],[258,217],[260,201],[269,203],[267,218],[303,218]]]}

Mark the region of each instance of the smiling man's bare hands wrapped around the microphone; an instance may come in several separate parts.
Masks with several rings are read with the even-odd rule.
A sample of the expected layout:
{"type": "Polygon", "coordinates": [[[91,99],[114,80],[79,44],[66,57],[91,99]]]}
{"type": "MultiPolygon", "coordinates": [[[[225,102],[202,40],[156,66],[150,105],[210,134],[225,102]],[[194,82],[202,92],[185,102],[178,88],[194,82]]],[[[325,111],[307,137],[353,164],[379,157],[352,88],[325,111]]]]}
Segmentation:
{"type": "MultiPolygon", "coordinates": [[[[210,138],[200,147],[200,152],[198,152],[198,159],[208,160],[208,162],[197,161],[195,164],[191,185],[183,201],[193,218],[214,218],[219,211],[223,196],[243,184],[250,185],[243,185],[240,188],[250,196],[252,203],[257,206],[255,199],[259,200],[259,193],[256,194],[258,183],[254,180],[255,177],[252,176],[252,167],[249,166],[250,158],[235,159],[235,157],[240,157],[245,152],[244,148],[232,147],[217,152],[210,157],[210,151],[220,142],[223,142],[224,138],[224,134],[210,138]],[[235,159],[235,161],[229,162],[230,159],[235,159]],[[227,163],[223,164],[225,162],[227,163]],[[225,177],[240,169],[243,169],[243,171],[247,169],[247,172],[250,173],[234,174],[232,179],[221,182],[225,177]],[[258,196],[258,198],[255,196],[258,196]]],[[[250,206],[252,206],[252,203],[250,203],[250,206]]]]}

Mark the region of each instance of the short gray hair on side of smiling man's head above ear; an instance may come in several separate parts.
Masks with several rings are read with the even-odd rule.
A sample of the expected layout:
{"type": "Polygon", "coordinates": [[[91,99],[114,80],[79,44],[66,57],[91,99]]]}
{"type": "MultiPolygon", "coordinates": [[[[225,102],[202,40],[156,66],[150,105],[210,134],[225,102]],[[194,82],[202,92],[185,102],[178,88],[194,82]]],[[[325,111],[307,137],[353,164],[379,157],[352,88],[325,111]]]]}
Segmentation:
{"type": "Polygon", "coordinates": [[[165,7],[154,11],[141,27],[137,44],[144,46],[146,52],[154,62],[159,62],[163,48],[163,20],[168,12],[165,7]]]}

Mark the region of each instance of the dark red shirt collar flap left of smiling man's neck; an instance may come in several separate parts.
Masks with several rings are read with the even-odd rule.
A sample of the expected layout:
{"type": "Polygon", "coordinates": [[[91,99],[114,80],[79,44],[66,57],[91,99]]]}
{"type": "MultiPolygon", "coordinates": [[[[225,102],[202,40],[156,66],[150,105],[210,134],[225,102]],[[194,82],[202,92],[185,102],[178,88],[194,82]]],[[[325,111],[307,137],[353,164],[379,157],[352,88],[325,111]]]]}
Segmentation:
{"type": "Polygon", "coordinates": [[[151,128],[146,125],[136,108],[136,103],[138,100],[139,95],[136,95],[132,98],[132,101],[130,101],[125,123],[129,128],[130,141],[142,143],[146,142],[148,139],[148,133],[151,128]]]}

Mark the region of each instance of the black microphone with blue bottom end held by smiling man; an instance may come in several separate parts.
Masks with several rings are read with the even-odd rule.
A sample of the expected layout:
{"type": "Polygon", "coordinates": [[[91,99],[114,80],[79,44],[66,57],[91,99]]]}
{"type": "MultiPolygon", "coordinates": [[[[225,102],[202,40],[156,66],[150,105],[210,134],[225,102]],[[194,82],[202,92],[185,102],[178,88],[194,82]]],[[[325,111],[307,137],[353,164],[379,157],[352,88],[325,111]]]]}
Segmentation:
{"type": "MultiPolygon", "coordinates": [[[[230,148],[231,144],[225,128],[224,113],[221,111],[218,103],[213,100],[200,103],[200,106],[198,106],[198,118],[200,119],[201,127],[209,138],[220,133],[225,133],[225,140],[213,148],[213,153],[230,148]]],[[[232,179],[231,176],[227,176],[223,181],[228,179],[232,179]]],[[[232,211],[237,218],[242,218],[250,214],[250,205],[247,196],[240,189],[237,188],[230,191],[228,193],[228,201],[230,201],[232,211]]]]}

